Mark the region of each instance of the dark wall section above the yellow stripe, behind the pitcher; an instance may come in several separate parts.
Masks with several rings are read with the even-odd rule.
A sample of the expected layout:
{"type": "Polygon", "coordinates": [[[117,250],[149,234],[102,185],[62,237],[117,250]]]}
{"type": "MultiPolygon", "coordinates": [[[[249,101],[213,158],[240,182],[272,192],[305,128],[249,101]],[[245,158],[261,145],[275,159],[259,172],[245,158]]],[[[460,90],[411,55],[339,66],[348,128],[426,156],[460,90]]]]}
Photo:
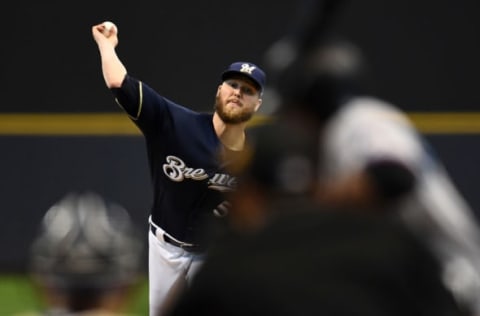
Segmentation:
{"type": "MultiPolygon", "coordinates": [[[[16,1],[0,12],[0,108],[112,110],[90,32],[108,19],[119,27],[130,73],[180,103],[210,109],[218,74],[233,60],[261,64],[298,3],[16,1]]],[[[407,110],[478,110],[479,1],[346,3],[333,30],[364,50],[380,96],[407,110]]]]}

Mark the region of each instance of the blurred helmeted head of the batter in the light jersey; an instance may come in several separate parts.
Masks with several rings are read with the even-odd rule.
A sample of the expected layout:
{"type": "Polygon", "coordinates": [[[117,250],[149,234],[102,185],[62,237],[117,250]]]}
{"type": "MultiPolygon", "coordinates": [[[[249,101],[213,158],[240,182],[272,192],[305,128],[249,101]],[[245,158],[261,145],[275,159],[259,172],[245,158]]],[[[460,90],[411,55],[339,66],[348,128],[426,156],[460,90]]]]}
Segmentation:
{"type": "Polygon", "coordinates": [[[366,93],[368,67],[360,49],[341,39],[325,39],[305,51],[280,76],[279,114],[307,114],[328,120],[350,98],[366,93]]]}

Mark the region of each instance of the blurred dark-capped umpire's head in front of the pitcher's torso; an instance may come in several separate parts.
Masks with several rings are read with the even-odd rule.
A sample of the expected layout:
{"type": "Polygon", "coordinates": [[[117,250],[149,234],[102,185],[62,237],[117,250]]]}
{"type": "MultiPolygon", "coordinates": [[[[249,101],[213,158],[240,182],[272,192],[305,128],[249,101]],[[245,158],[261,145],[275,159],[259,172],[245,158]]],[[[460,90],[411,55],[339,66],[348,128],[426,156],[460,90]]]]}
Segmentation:
{"type": "Polygon", "coordinates": [[[278,213],[279,205],[311,195],[318,152],[311,136],[281,122],[252,130],[247,148],[230,166],[238,180],[229,217],[234,228],[257,230],[278,213]]]}

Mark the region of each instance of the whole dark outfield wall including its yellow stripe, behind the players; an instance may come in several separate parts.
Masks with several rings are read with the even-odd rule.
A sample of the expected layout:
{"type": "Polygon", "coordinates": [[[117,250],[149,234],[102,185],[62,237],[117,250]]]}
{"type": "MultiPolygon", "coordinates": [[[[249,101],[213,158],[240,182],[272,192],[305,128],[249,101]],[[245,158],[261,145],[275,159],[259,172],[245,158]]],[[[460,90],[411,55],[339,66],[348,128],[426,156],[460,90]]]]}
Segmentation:
{"type": "MultiPolygon", "coordinates": [[[[146,228],[143,139],[104,86],[92,25],[118,25],[132,75],[210,111],[221,71],[234,60],[261,65],[297,4],[30,0],[2,10],[0,272],[25,270],[42,214],[71,190],[116,200],[146,228]]],[[[412,116],[478,211],[479,11],[476,0],[351,1],[333,25],[364,50],[369,84],[412,116]]]]}

